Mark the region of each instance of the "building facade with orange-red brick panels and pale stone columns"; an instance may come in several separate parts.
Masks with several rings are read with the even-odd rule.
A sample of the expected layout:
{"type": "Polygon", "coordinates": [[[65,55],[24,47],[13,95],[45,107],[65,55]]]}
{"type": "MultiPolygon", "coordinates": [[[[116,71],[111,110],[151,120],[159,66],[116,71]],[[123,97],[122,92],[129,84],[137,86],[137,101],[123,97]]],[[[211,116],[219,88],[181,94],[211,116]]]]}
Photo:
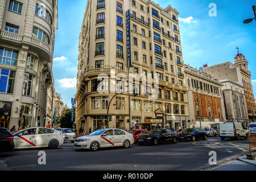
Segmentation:
{"type": "Polygon", "coordinates": [[[184,72],[188,86],[190,126],[214,127],[226,121],[221,82],[189,65],[184,66],[184,72]]]}

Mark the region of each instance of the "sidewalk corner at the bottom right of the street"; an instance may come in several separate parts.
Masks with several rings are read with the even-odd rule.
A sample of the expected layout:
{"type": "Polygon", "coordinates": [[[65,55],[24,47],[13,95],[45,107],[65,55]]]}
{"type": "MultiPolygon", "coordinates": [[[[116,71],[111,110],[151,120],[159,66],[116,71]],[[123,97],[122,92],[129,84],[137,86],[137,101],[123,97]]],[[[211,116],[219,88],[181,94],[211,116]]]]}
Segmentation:
{"type": "MultiPolygon", "coordinates": [[[[256,152],[253,154],[256,154],[256,152]]],[[[247,160],[246,155],[243,155],[233,162],[226,163],[210,171],[256,171],[256,159],[247,160]]]]}

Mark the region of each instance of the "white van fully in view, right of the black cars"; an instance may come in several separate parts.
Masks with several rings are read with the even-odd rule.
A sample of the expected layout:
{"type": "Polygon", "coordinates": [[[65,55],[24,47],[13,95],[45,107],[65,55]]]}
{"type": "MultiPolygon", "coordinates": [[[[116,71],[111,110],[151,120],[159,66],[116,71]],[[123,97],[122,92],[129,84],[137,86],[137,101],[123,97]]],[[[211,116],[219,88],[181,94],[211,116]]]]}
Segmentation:
{"type": "Polygon", "coordinates": [[[247,138],[246,129],[240,122],[225,122],[219,123],[221,140],[225,138],[236,138],[240,140],[241,137],[247,138]]]}

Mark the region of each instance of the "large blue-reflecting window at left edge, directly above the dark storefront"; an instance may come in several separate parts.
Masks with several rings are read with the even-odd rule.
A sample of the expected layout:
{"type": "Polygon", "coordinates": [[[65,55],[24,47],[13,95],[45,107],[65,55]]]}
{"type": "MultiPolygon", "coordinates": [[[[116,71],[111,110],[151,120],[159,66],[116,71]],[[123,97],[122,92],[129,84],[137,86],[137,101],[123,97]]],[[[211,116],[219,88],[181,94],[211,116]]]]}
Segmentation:
{"type": "Polygon", "coordinates": [[[0,68],[0,92],[13,93],[15,71],[0,68]]]}

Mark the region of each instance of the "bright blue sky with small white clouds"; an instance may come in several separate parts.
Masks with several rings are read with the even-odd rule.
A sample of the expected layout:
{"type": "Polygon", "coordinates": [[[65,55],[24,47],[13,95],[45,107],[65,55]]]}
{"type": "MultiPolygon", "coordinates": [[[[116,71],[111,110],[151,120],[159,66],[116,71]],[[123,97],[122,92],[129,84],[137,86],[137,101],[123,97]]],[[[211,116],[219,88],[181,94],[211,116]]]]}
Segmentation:
{"type": "MultiPolygon", "coordinates": [[[[204,64],[214,65],[226,61],[233,63],[238,46],[240,53],[249,62],[251,83],[254,94],[256,93],[256,21],[243,24],[243,20],[254,18],[252,6],[256,5],[256,0],[154,2],[163,8],[171,5],[180,13],[181,48],[185,64],[199,68],[204,64]],[[210,3],[215,3],[216,11],[212,11],[210,3]],[[216,16],[212,16],[213,12],[216,12],[216,16]]],[[[71,107],[71,98],[76,94],[79,34],[86,3],[86,0],[59,1],[53,77],[55,91],[61,94],[68,107],[71,107]]]]}

